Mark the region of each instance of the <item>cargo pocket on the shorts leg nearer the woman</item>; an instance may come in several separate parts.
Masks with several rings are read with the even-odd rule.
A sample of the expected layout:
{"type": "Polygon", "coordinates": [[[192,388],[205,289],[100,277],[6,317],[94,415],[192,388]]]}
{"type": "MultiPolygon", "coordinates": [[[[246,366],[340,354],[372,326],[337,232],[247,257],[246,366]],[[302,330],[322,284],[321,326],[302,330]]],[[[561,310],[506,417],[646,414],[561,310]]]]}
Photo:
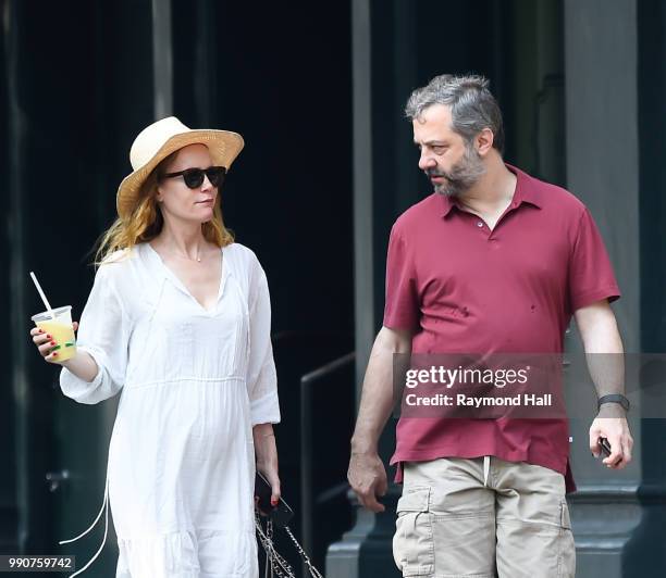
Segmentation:
{"type": "Polygon", "coordinates": [[[397,503],[393,557],[404,577],[434,573],[432,520],[428,511],[430,488],[412,486],[403,490],[397,503]]]}

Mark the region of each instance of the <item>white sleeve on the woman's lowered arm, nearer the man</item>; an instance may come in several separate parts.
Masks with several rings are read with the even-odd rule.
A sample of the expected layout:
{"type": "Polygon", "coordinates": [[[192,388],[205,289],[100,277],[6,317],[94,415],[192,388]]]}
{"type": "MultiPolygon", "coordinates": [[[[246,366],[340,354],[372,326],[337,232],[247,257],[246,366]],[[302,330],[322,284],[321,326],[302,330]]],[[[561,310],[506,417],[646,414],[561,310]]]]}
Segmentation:
{"type": "Polygon", "coordinates": [[[271,344],[271,299],[266,273],[255,260],[249,285],[249,363],[247,390],[251,425],[278,424],[278,375],[271,344]]]}

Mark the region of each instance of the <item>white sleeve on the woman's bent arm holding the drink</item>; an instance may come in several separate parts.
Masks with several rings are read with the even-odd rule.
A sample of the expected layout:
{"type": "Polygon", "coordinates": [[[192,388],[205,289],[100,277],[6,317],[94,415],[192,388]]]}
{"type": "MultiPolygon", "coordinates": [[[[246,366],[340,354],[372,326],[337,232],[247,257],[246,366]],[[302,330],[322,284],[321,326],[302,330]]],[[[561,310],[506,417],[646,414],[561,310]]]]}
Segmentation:
{"type": "Polygon", "coordinates": [[[98,372],[92,381],[66,367],[60,373],[62,392],[79,403],[99,403],[115,395],[125,382],[130,323],[110,278],[116,264],[101,265],[79,321],[76,349],[89,353],[98,372]]]}

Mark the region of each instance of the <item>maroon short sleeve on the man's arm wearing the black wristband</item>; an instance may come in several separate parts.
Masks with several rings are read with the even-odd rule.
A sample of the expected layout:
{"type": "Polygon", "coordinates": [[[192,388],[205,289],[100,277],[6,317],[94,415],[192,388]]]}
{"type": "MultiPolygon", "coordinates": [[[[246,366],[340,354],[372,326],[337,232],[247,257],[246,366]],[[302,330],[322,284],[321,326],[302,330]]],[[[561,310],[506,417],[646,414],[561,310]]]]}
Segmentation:
{"type": "Polygon", "coordinates": [[[571,312],[602,299],[615,301],[620,291],[604,241],[592,215],[584,210],[578,224],[569,261],[569,302],[571,312]]]}

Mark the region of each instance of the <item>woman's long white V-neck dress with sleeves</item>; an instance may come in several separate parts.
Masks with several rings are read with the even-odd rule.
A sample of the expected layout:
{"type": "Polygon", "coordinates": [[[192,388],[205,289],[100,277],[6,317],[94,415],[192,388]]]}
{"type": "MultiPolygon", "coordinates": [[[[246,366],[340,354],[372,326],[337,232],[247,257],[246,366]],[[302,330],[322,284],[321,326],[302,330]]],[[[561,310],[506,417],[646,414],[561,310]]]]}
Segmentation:
{"type": "Polygon", "coordinates": [[[280,420],[270,299],[255,253],[233,243],[221,259],[211,311],[148,243],[101,265],[77,338],[99,373],[60,376],[81,403],[122,392],[107,482],[116,577],[258,576],[252,426],[280,420]]]}

